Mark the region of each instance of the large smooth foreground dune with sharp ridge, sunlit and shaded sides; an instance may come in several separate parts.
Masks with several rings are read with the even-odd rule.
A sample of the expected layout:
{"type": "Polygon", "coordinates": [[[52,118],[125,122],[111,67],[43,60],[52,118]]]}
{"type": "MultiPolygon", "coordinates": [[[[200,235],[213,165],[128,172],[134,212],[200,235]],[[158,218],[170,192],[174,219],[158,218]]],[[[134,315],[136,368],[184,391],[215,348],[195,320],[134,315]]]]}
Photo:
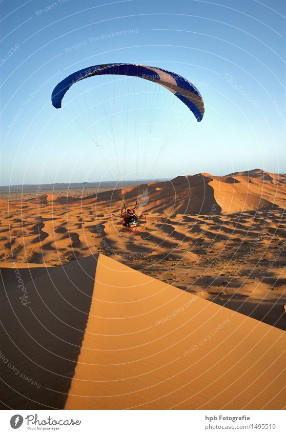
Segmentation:
{"type": "Polygon", "coordinates": [[[275,327],[103,255],[1,274],[7,407],[284,406],[286,336],[275,327]]]}

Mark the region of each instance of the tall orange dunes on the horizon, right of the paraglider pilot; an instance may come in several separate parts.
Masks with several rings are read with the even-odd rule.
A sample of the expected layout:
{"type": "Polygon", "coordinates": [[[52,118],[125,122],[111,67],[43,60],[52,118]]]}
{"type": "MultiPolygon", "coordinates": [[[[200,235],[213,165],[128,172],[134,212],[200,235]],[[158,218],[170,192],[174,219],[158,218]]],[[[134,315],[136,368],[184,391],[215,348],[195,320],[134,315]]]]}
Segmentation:
{"type": "MultiPolygon", "coordinates": [[[[146,211],[180,214],[227,214],[286,205],[286,176],[260,169],[223,177],[179,176],[149,186],[146,211]]],[[[104,197],[104,194],[102,194],[104,197]]],[[[129,188],[128,199],[135,199],[129,188]]],[[[99,198],[101,196],[99,195],[99,198]]]]}

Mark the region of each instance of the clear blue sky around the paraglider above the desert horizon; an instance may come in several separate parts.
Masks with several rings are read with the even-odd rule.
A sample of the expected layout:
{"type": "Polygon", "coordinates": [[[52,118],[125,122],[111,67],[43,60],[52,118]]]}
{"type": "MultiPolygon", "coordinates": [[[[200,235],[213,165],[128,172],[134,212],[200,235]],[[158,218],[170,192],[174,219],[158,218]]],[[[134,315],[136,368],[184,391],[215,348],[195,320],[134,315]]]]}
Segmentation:
{"type": "MultiPolygon", "coordinates": [[[[182,123],[155,176],[286,172],[284,0],[2,0],[0,8],[0,184],[110,178],[96,147],[74,123],[67,128],[50,95],[68,74],[118,61],[175,71],[205,100],[205,117],[191,130],[182,123]]],[[[167,112],[159,116],[168,123],[167,112]]],[[[155,127],[151,144],[165,130],[155,127]]],[[[128,140],[142,134],[144,142],[140,129],[130,127],[128,140]]]]}

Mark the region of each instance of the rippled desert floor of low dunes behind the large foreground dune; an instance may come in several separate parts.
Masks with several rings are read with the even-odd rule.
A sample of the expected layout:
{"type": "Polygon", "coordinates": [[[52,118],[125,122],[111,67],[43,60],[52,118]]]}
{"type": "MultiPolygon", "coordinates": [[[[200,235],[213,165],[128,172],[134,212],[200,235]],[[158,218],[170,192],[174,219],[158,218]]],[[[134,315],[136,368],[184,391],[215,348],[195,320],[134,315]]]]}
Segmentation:
{"type": "Polygon", "coordinates": [[[104,194],[2,194],[2,265],[12,259],[19,266],[60,265],[101,252],[186,292],[286,329],[286,223],[281,207],[227,214],[149,209],[146,227],[131,235],[122,228],[119,202],[111,208],[104,194]]]}

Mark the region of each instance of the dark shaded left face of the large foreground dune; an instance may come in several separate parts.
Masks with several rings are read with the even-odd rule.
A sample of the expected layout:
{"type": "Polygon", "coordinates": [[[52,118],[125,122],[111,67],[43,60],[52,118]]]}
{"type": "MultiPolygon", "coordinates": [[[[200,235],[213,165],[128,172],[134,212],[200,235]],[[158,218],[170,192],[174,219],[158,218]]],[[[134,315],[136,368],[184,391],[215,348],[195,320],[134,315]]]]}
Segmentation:
{"type": "Polygon", "coordinates": [[[17,274],[1,268],[2,392],[8,408],[64,407],[88,320],[97,258],[19,268],[17,274]],[[26,306],[19,299],[23,296],[26,306]]]}

